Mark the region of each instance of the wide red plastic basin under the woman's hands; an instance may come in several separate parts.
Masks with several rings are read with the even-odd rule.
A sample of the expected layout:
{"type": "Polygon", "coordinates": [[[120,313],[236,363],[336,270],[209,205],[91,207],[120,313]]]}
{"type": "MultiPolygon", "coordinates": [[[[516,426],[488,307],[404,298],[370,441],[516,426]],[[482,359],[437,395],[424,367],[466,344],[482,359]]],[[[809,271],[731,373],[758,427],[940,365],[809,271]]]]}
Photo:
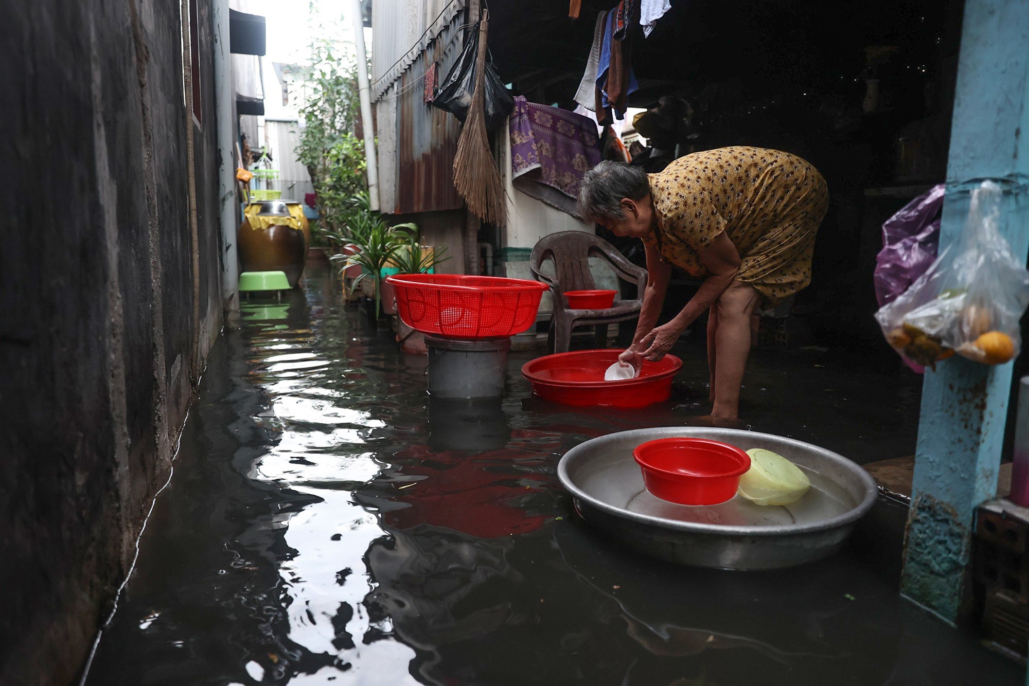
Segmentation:
{"type": "Polygon", "coordinates": [[[532,392],[566,405],[643,407],[668,400],[672,377],[682,360],[666,355],[660,362],[643,362],[640,375],[605,382],[604,371],[618,361],[622,350],[582,350],[558,353],[526,362],[522,375],[532,382],[532,392]]]}

